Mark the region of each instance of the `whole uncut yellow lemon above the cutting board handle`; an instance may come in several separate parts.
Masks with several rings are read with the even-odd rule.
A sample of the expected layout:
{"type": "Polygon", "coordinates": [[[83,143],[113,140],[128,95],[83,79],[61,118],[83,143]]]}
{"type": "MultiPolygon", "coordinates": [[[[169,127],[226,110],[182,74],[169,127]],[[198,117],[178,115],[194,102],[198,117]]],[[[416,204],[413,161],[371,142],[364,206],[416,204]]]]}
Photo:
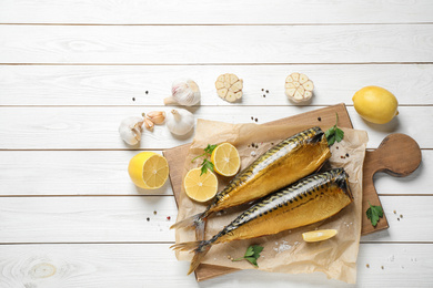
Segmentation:
{"type": "Polygon", "coordinates": [[[353,105],[364,120],[385,124],[399,114],[399,102],[386,89],[365,86],[358,91],[353,97],[353,105]]]}

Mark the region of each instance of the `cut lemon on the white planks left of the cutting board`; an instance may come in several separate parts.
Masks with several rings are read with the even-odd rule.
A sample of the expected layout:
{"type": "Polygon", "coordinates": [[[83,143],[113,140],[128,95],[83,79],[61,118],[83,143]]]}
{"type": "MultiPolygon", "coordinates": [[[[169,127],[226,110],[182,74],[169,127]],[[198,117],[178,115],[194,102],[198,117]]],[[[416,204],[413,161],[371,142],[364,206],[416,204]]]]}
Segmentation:
{"type": "Polygon", "coordinates": [[[144,189],[158,189],[169,177],[169,163],[154,152],[141,152],[133,156],[128,166],[132,182],[144,189]]]}

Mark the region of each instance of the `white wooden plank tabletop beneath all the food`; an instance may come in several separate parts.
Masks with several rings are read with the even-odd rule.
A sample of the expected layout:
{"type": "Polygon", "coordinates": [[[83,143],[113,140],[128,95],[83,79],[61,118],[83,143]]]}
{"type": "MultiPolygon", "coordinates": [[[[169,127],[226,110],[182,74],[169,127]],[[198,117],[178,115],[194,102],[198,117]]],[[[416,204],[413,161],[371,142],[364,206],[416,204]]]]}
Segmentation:
{"type": "Polygon", "coordinates": [[[125,116],[168,110],[180,76],[201,88],[197,119],[264,123],[344,102],[369,148],[394,132],[415,138],[420,168],[375,178],[390,229],[362,237],[358,286],[433,286],[432,1],[0,0],[0,63],[1,288],[349,286],[321,274],[185,276],[169,250],[170,183],[138,189],[127,165],[192,135],[157,126],[131,150],[117,131],[125,116]],[[308,106],[284,95],[295,71],[315,83],[308,106]],[[216,96],[225,72],[244,80],[242,103],[216,96]],[[399,99],[390,124],[353,109],[372,84],[399,99]]]}

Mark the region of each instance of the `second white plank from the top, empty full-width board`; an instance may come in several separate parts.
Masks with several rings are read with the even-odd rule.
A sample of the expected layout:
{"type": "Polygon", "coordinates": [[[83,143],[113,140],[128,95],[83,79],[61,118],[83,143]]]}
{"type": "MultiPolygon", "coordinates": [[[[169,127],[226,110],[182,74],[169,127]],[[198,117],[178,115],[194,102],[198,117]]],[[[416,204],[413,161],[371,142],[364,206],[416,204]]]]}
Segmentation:
{"type": "Polygon", "coordinates": [[[430,24],[0,25],[0,63],[426,63],[432,32],[430,24]],[[221,41],[228,35],[235,44],[221,41]]]}

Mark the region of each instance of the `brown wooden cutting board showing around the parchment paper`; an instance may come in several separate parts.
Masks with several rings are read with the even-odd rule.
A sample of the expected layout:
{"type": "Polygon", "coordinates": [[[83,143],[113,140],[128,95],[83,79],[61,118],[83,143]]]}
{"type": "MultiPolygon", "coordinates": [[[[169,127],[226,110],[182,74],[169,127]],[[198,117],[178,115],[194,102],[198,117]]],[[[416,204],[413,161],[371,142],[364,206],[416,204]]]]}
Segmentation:
{"type": "MultiPolygon", "coordinates": [[[[290,123],[291,125],[311,125],[311,126],[332,126],[335,124],[335,113],[339,113],[339,126],[353,128],[348,110],[344,104],[338,104],[324,109],[310,111],[291,117],[269,122],[263,125],[274,125],[290,123]]],[[[182,171],[190,144],[181,145],[171,150],[163,151],[170,166],[170,181],[173,188],[174,197],[178,202],[182,185],[182,171]]],[[[387,172],[393,176],[406,176],[411,174],[421,163],[421,150],[416,142],[403,134],[392,134],[387,136],[381,146],[374,151],[365,153],[363,169],[363,212],[369,208],[369,202],[372,205],[381,206],[377,193],[373,185],[373,176],[376,172],[387,172]],[[404,153],[401,153],[404,151],[404,153]],[[399,152],[399,153],[397,153],[399,152]],[[401,160],[402,155],[407,160],[401,160]]],[[[386,216],[373,227],[363,213],[362,235],[386,229],[389,227],[386,216]]],[[[202,264],[195,270],[198,281],[203,281],[216,276],[236,271],[238,269],[226,268],[223,266],[202,264]]]]}

